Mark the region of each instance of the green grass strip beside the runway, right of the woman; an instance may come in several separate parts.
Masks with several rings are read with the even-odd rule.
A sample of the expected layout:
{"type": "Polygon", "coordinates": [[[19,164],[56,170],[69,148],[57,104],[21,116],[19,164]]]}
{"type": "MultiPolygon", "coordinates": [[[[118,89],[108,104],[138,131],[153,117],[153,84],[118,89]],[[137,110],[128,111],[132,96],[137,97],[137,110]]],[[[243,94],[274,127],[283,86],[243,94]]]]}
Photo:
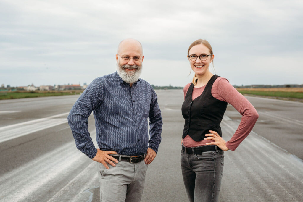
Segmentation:
{"type": "Polygon", "coordinates": [[[237,89],[241,94],[262,95],[282,98],[299,98],[303,99],[302,92],[285,92],[285,91],[250,91],[237,89]]]}

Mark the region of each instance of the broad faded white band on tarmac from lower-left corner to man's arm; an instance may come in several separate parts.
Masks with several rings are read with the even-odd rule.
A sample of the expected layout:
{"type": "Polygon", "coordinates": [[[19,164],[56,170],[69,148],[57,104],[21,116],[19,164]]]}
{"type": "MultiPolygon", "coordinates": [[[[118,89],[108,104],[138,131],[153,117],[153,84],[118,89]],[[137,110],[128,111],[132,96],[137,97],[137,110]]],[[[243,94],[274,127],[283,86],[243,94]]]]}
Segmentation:
{"type": "MultiPolygon", "coordinates": [[[[90,132],[95,142],[95,131],[90,132]]],[[[0,178],[0,198],[4,201],[31,201],[37,193],[44,193],[50,185],[62,180],[87,157],[68,142],[28,163],[13,169],[0,178]]],[[[93,162],[92,162],[93,163],[93,162]]]]}

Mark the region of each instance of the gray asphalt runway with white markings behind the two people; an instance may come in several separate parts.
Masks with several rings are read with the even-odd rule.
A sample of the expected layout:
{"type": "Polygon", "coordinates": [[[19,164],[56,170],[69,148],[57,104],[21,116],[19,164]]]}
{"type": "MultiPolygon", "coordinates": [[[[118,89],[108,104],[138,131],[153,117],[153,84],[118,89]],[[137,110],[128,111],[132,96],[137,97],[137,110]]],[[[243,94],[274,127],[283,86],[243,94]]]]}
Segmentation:
{"type": "MultiPolygon", "coordinates": [[[[162,142],[142,201],[188,201],[180,167],[183,91],[156,93],[162,142]]],[[[77,98],[0,101],[0,201],[99,201],[97,165],[76,149],[66,120],[77,98]]],[[[247,98],[260,117],[240,146],[225,152],[220,201],[302,201],[303,103],[247,98]]],[[[221,123],[226,141],[240,119],[228,105],[221,123]]],[[[89,131],[95,143],[92,115],[89,131]]]]}

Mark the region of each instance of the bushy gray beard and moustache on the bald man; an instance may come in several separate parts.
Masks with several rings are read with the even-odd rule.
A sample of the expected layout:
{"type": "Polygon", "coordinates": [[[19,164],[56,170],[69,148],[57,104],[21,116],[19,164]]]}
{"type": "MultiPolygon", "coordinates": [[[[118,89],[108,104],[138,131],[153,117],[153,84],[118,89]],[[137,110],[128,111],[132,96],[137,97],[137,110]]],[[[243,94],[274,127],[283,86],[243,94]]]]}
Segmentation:
{"type": "Polygon", "coordinates": [[[121,66],[119,62],[117,63],[118,75],[122,78],[122,80],[125,83],[133,84],[133,83],[137,82],[139,77],[140,77],[141,71],[142,71],[142,65],[139,66],[139,65],[128,65],[128,64],[126,64],[126,65],[121,66]],[[125,68],[136,69],[136,70],[135,71],[127,71],[127,70],[125,70],[125,68]]]}

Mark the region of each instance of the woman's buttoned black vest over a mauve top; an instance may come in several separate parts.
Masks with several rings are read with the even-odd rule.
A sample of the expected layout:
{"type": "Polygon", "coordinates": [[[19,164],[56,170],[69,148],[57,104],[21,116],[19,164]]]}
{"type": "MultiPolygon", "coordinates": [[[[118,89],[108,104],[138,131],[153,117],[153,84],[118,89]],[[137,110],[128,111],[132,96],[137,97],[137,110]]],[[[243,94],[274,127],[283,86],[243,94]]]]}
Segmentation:
{"type": "Polygon", "coordinates": [[[189,86],[182,104],[182,115],[185,118],[182,139],[188,134],[194,141],[201,141],[209,130],[216,131],[222,137],[220,123],[227,102],[220,101],[211,95],[211,87],[218,77],[218,75],[213,75],[203,93],[195,100],[192,100],[191,96],[194,84],[189,86]]]}

